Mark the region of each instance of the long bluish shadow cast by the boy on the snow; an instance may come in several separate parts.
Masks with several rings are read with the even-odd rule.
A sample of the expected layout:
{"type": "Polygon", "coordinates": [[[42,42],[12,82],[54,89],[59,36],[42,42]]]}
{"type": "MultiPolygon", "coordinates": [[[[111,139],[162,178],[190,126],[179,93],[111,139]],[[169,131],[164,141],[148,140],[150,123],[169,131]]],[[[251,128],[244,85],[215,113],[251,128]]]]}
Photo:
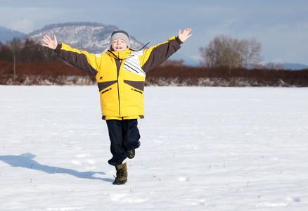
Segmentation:
{"type": "Polygon", "coordinates": [[[70,174],[74,177],[84,179],[101,179],[103,181],[113,182],[113,179],[93,177],[94,174],[105,174],[105,172],[77,172],[76,170],[65,169],[61,167],[52,167],[48,165],[41,165],[39,162],[33,160],[35,155],[25,153],[22,155],[3,155],[0,160],[6,162],[12,167],[24,167],[32,170],[39,170],[48,174],[70,174]]]}

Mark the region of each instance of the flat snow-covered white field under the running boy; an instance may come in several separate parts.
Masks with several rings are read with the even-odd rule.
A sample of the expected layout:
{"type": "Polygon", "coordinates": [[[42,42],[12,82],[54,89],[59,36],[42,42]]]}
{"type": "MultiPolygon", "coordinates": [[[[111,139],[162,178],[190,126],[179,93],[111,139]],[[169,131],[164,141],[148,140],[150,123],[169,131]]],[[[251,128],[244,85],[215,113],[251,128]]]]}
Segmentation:
{"type": "Polygon", "coordinates": [[[0,210],[305,210],[308,89],[146,87],[112,184],[98,88],[0,86],[0,210]]]}

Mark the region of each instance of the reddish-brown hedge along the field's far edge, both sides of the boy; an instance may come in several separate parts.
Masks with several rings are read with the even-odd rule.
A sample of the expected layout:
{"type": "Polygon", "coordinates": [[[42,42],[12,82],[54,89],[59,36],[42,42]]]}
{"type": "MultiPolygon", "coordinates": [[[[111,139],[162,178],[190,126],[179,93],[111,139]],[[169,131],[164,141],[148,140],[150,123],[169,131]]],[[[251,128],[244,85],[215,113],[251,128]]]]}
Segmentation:
{"type": "MultiPolygon", "coordinates": [[[[1,85],[93,85],[96,79],[60,62],[13,63],[0,61],[1,85]]],[[[167,63],[146,75],[146,86],[308,87],[307,70],[188,67],[167,63]]]]}

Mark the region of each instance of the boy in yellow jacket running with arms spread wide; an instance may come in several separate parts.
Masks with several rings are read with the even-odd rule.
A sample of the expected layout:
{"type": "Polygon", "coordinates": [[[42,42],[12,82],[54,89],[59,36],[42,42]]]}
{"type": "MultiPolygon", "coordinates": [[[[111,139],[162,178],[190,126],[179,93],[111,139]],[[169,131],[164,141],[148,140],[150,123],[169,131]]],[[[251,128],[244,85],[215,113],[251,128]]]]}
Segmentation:
{"type": "Polygon", "coordinates": [[[72,49],[67,44],[58,44],[56,35],[51,39],[43,37],[43,46],[54,49],[66,62],[96,76],[101,99],[101,113],[106,120],[113,157],[108,160],[115,166],[117,177],[113,184],[127,182],[127,162],[135,156],[140,146],[138,119],[143,116],[143,89],[146,72],[160,65],[181,48],[191,37],[191,29],[179,30],[177,37],[171,37],[162,44],[143,51],[130,49],[130,37],[125,31],[113,32],[110,49],[99,56],[72,49]]]}

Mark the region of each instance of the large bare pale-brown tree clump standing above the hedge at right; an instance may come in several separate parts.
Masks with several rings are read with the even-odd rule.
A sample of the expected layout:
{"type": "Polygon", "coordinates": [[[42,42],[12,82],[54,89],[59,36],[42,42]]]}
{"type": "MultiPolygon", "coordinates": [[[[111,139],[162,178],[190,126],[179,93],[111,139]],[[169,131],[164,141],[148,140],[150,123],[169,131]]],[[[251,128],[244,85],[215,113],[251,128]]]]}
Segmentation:
{"type": "Polygon", "coordinates": [[[200,65],[211,68],[248,68],[257,65],[262,57],[261,43],[256,39],[232,39],[224,35],[215,37],[207,47],[200,47],[200,65]]]}

